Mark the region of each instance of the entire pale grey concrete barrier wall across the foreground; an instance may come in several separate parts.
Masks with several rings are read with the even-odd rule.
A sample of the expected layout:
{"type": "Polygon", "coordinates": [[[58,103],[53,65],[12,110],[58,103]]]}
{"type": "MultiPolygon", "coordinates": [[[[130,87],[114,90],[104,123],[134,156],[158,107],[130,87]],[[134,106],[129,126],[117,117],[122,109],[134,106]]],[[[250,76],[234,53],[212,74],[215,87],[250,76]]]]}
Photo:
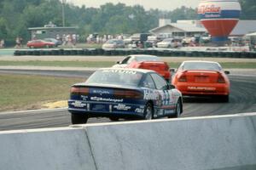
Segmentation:
{"type": "Polygon", "coordinates": [[[0,133],[0,169],[255,170],[256,113],[0,133]]]}

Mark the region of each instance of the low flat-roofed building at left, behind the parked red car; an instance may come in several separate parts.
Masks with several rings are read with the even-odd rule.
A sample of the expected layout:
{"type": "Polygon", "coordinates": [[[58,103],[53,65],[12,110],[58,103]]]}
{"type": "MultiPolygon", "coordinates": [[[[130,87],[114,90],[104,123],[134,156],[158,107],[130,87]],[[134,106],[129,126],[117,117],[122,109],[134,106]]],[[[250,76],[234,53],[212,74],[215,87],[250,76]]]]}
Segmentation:
{"type": "Polygon", "coordinates": [[[31,39],[44,39],[44,38],[56,38],[57,35],[62,37],[63,35],[68,34],[77,34],[78,27],[57,27],[51,22],[44,27],[33,27],[28,28],[28,31],[31,32],[31,39]]]}

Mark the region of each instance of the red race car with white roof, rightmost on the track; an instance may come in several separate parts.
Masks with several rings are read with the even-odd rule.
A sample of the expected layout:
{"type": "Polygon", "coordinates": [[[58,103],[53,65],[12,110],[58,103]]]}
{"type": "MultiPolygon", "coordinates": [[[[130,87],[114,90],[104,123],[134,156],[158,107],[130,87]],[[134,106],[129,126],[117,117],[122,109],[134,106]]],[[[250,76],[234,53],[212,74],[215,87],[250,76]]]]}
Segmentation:
{"type": "Polygon", "coordinates": [[[230,80],[217,62],[184,61],[172,78],[172,84],[183,95],[218,96],[224,102],[229,101],[230,80]]]}

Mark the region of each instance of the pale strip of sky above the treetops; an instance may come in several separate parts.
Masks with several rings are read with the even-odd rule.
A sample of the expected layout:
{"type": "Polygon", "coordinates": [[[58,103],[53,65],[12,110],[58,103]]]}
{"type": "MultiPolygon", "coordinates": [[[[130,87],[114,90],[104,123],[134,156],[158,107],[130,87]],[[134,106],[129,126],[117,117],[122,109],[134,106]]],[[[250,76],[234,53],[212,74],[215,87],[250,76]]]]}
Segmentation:
{"type": "Polygon", "coordinates": [[[200,0],[67,0],[67,3],[73,3],[74,5],[85,5],[88,7],[99,8],[105,3],[125,3],[127,6],[141,5],[146,10],[150,8],[159,8],[161,10],[172,10],[181,6],[196,8],[200,3],[200,0]]]}

